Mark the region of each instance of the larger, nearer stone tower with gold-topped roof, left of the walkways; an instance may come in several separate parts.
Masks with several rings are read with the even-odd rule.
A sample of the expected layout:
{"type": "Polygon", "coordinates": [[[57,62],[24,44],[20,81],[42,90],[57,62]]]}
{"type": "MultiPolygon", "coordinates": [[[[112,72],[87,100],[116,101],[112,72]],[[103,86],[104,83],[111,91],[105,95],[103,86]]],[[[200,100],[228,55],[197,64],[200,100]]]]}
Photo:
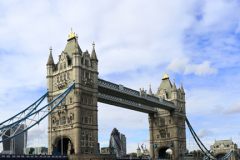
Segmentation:
{"type": "Polygon", "coordinates": [[[48,102],[73,81],[75,87],[48,117],[49,154],[96,154],[98,149],[98,59],[95,44],[90,55],[88,50],[82,52],[77,38],[71,31],[57,63],[53,61],[50,48],[47,62],[48,102]]]}

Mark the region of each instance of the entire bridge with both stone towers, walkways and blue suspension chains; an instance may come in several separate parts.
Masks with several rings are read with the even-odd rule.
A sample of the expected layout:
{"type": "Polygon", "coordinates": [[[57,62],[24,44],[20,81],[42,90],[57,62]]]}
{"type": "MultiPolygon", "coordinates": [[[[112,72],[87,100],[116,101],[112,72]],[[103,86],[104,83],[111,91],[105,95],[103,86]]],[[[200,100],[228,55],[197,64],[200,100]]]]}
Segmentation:
{"type": "MultiPolygon", "coordinates": [[[[91,54],[88,50],[83,52],[78,37],[71,31],[56,63],[50,47],[46,77],[48,91],[25,110],[0,123],[0,136],[16,126],[26,125],[27,119],[35,122],[0,142],[26,132],[48,117],[49,154],[69,155],[69,159],[114,159],[113,155],[98,154],[97,102],[101,102],[148,114],[151,158],[165,158],[169,148],[172,150],[172,159],[183,156],[186,151],[186,122],[201,151],[207,158],[217,160],[200,141],[186,118],[182,83],[177,88],[175,80],[171,82],[165,73],[157,92],[152,93],[150,86],[147,94],[144,89],[137,91],[100,79],[98,74],[95,44],[91,54]],[[45,97],[48,104],[38,109],[45,97]],[[43,115],[34,120],[41,112],[43,115]]],[[[236,159],[236,154],[232,149],[221,160],[231,155],[236,159]]]]}

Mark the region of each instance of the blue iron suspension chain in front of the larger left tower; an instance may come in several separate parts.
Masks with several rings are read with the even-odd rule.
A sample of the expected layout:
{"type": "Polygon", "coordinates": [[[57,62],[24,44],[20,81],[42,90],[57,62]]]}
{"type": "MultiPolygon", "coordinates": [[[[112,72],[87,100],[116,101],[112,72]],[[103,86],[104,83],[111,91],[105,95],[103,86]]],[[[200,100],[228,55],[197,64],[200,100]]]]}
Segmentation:
{"type": "Polygon", "coordinates": [[[12,126],[10,126],[10,128],[13,128],[16,123],[19,124],[19,123],[21,123],[21,122],[24,122],[24,121],[25,121],[26,119],[28,119],[29,117],[38,114],[38,113],[41,112],[43,109],[46,109],[48,106],[50,106],[50,105],[53,104],[55,101],[59,100],[60,97],[63,96],[63,97],[57,102],[57,104],[55,104],[55,106],[54,106],[51,110],[48,111],[48,113],[47,113],[46,115],[44,115],[42,118],[40,118],[40,119],[39,119],[38,121],[36,121],[34,124],[32,124],[31,126],[28,126],[26,129],[22,130],[21,132],[15,134],[15,135],[13,135],[13,136],[10,135],[10,137],[8,137],[8,138],[6,138],[6,139],[4,139],[4,140],[1,140],[0,143],[2,143],[2,142],[4,142],[4,141],[7,141],[7,140],[10,140],[10,139],[12,139],[12,138],[14,138],[14,137],[22,134],[23,132],[26,132],[27,130],[29,130],[30,128],[32,128],[33,126],[35,126],[36,124],[39,124],[44,118],[46,118],[49,114],[51,114],[54,109],[56,109],[56,107],[66,98],[66,96],[69,94],[69,92],[73,89],[74,86],[75,86],[75,82],[73,82],[73,84],[72,84],[71,86],[69,86],[63,93],[61,93],[58,97],[56,97],[54,100],[52,100],[50,103],[48,103],[48,104],[45,105],[44,107],[38,109],[37,111],[32,112],[31,114],[27,114],[24,118],[16,121],[12,126]]]}

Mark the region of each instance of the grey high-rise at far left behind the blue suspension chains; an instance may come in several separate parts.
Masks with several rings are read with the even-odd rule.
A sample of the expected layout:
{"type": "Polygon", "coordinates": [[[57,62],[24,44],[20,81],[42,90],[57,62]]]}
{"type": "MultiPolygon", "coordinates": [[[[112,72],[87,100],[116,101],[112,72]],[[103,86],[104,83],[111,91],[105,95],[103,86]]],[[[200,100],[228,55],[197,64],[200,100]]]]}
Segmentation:
{"type": "MultiPolygon", "coordinates": [[[[25,128],[26,125],[24,124],[16,125],[14,128],[7,131],[5,135],[2,136],[2,139],[5,140],[10,135],[17,134],[24,130],[25,128]]],[[[27,146],[27,131],[16,136],[15,138],[12,138],[11,140],[3,142],[2,144],[3,144],[2,154],[23,154],[23,148],[27,146]]]]}

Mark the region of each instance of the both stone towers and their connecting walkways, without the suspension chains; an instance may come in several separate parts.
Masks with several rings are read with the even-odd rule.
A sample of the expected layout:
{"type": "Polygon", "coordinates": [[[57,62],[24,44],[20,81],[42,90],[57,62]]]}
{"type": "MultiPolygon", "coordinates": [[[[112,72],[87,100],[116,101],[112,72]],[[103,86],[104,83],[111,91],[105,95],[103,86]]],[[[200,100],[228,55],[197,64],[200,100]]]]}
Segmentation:
{"type": "Polygon", "coordinates": [[[171,148],[173,158],[178,158],[186,150],[185,133],[185,93],[183,86],[177,89],[175,82],[170,82],[165,74],[156,94],[144,90],[133,90],[98,78],[98,59],[95,44],[91,54],[83,52],[78,44],[78,37],[71,32],[64,51],[54,63],[52,49],[47,62],[48,101],[56,98],[73,81],[75,87],[64,102],[65,111],[59,114],[53,111],[48,118],[49,153],[60,152],[63,135],[64,153],[67,145],[74,148],[75,154],[96,154],[98,147],[97,102],[111,104],[149,115],[150,155],[152,158],[163,157],[166,149],[171,148]],[[61,116],[69,124],[61,125],[61,116]],[[53,121],[54,119],[54,121],[53,121]],[[50,127],[51,126],[51,127],[50,127]],[[61,132],[60,132],[61,130],[61,132]],[[70,143],[70,144],[68,144],[70,143]],[[155,145],[155,148],[154,148],[155,145]]]}

